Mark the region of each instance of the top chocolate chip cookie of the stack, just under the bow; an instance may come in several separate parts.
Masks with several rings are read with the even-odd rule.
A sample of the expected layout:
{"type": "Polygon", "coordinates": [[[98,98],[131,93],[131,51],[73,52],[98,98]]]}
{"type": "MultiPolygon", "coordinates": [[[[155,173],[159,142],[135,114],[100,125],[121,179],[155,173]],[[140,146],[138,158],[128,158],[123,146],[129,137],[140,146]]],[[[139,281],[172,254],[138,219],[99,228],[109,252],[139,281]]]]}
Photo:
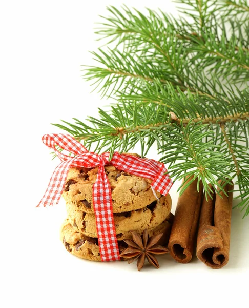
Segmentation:
{"type": "MultiPolygon", "coordinates": [[[[127,212],[150,205],[157,200],[150,179],[131,175],[114,166],[105,166],[112,191],[113,213],[127,212]]],[[[98,167],[71,168],[68,173],[63,197],[86,213],[94,213],[92,189],[98,167]]],[[[156,192],[157,197],[161,195],[156,192]]]]}

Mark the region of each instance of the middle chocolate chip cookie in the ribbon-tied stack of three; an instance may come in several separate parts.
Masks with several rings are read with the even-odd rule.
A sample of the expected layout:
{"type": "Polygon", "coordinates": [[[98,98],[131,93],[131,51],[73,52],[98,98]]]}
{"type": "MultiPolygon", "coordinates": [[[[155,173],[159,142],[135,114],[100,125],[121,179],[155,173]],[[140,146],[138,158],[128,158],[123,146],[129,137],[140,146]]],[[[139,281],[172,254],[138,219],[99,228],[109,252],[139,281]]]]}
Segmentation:
{"type": "MultiPolygon", "coordinates": [[[[96,218],[92,213],[85,213],[70,203],[66,204],[70,223],[80,233],[96,238],[96,218]]],[[[159,201],[150,205],[123,213],[115,213],[114,224],[118,240],[129,238],[131,230],[141,233],[144,229],[152,229],[163,222],[171,210],[171,197],[162,196],[159,201]]]]}

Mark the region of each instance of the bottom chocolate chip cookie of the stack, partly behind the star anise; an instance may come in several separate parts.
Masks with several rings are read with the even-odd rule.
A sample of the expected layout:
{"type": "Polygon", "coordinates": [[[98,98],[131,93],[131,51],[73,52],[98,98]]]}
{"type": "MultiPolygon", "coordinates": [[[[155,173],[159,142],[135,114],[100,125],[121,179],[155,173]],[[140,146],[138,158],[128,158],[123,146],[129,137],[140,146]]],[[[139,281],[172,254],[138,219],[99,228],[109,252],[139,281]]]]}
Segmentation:
{"type": "MultiPolygon", "coordinates": [[[[167,246],[170,236],[171,224],[173,214],[170,214],[159,226],[154,230],[149,230],[149,236],[154,234],[163,233],[162,238],[158,242],[159,245],[167,246]]],[[[98,239],[91,238],[82,233],[78,233],[69,220],[66,219],[60,230],[60,239],[64,243],[65,248],[71,254],[91,261],[101,261],[98,239]]],[[[118,241],[119,253],[127,248],[127,244],[123,241],[118,241]]],[[[122,259],[125,260],[125,259],[122,259]]]]}

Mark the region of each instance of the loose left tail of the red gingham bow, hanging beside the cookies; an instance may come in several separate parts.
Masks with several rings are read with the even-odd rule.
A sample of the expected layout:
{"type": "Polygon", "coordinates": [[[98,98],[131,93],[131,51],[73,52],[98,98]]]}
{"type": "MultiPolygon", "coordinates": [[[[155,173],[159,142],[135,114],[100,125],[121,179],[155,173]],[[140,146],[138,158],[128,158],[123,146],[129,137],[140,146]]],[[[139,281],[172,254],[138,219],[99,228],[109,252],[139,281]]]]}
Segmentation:
{"type": "Polygon", "coordinates": [[[39,204],[36,207],[39,207],[40,205],[46,207],[46,205],[54,205],[59,203],[61,194],[63,193],[66,184],[68,170],[71,164],[72,160],[64,161],[55,168],[53,175],[49,181],[48,188],[43,198],[40,200],[39,204]]]}

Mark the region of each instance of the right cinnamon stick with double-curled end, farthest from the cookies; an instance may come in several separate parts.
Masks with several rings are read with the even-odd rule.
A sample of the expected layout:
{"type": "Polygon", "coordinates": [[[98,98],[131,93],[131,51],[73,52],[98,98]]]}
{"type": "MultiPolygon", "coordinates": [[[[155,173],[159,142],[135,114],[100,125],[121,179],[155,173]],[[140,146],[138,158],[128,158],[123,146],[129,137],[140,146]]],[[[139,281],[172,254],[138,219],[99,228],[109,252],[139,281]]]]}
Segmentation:
{"type": "MultiPolygon", "coordinates": [[[[222,181],[219,181],[222,185],[222,181]]],[[[222,198],[203,198],[197,237],[197,258],[212,268],[221,268],[229,261],[233,185],[227,184],[222,198]]]]}

